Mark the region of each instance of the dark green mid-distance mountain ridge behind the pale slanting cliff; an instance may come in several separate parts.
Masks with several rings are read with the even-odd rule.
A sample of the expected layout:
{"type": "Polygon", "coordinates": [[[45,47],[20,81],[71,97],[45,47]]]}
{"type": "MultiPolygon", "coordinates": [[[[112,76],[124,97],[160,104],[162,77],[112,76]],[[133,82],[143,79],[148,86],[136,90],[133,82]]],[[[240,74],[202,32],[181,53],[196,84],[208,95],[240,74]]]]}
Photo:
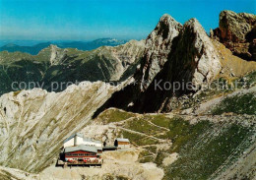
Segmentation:
{"type": "MultiPolygon", "coordinates": [[[[93,48],[93,45],[96,47],[96,44],[102,44],[103,41],[93,42],[88,48],[93,48]]],[[[115,43],[117,43],[115,40],[105,39],[104,44],[108,46],[88,51],[59,48],[51,44],[40,50],[37,55],[2,51],[0,52],[0,95],[13,91],[13,82],[36,82],[43,85],[40,88],[49,91],[52,91],[52,82],[74,84],[83,81],[122,82],[135,73],[145,49],[145,41],[130,40],[119,46],[109,46],[115,43]]],[[[33,50],[42,46],[43,44],[33,46],[33,50]]],[[[65,89],[60,87],[55,91],[65,89]]]]}

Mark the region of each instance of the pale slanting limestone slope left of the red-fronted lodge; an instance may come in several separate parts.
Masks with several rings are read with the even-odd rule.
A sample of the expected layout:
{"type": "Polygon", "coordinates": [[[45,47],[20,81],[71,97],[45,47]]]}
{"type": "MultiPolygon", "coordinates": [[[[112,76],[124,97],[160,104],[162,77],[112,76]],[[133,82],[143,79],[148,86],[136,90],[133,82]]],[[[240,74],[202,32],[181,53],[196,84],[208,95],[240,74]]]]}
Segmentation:
{"type": "Polygon", "coordinates": [[[62,92],[22,90],[0,97],[0,163],[39,172],[63,141],[86,126],[115,88],[83,82],[62,92]]]}

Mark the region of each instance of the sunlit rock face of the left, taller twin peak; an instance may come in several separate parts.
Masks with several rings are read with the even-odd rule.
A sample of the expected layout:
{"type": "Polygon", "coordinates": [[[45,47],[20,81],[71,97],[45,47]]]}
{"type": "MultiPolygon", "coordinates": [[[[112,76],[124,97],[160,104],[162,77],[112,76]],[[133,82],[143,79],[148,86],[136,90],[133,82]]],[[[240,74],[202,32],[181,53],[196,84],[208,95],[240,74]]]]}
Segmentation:
{"type": "Polygon", "coordinates": [[[167,61],[167,55],[171,50],[172,40],[182,29],[182,25],[171,16],[164,14],[160,22],[146,39],[146,50],[142,60],[140,73],[141,90],[145,90],[154,77],[160,72],[163,64],[167,61]]]}

